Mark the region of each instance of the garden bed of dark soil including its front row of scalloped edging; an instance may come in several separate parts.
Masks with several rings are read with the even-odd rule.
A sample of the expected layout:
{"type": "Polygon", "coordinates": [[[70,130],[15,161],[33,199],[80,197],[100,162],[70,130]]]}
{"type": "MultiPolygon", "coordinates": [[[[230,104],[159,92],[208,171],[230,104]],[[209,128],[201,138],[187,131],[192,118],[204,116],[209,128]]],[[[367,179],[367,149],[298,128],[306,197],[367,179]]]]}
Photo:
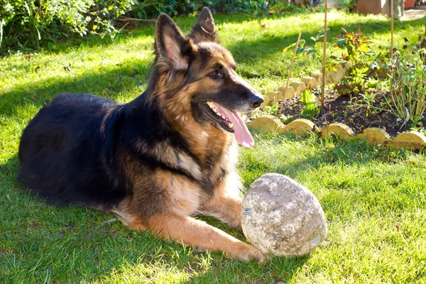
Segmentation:
{"type": "MultiPolygon", "coordinates": [[[[281,89],[283,91],[283,89],[281,89]]],[[[284,92],[284,91],[283,91],[284,92]]],[[[294,92],[294,91],[293,91],[294,92]]],[[[263,129],[267,132],[293,132],[304,136],[307,132],[315,132],[321,138],[334,135],[342,140],[352,138],[366,139],[370,144],[381,144],[391,148],[410,148],[420,150],[426,146],[424,127],[416,127],[413,131],[410,121],[403,121],[390,110],[391,103],[388,94],[376,92],[368,97],[359,94],[342,96],[327,91],[324,95],[324,109],[320,109],[320,91],[315,88],[312,93],[317,104],[318,113],[310,120],[305,119],[305,104],[301,97],[287,99],[281,92],[269,92],[265,97],[274,95],[273,106],[263,105],[263,108],[249,115],[248,125],[263,129]],[[283,112],[279,114],[280,107],[283,112]]],[[[269,98],[269,97],[268,97],[269,98]]],[[[266,102],[271,102],[266,99],[266,102]]],[[[311,106],[312,107],[312,106],[311,106]]],[[[422,115],[417,125],[425,125],[425,115],[422,115]]]]}

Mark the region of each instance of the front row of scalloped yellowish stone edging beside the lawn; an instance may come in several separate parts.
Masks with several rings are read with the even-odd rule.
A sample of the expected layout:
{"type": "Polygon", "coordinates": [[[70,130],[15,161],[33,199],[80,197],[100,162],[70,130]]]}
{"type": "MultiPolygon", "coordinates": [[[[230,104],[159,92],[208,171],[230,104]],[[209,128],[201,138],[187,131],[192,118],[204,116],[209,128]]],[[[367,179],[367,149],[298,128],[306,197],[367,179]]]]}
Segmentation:
{"type": "Polygon", "coordinates": [[[295,119],[289,124],[284,125],[278,117],[272,115],[259,116],[247,125],[267,132],[276,131],[278,133],[285,133],[290,131],[299,136],[304,136],[306,133],[313,131],[319,133],[320,137],[323,139],[330,135],[338,136],[344,140],[362,138],[366,139],[369,144],[381,144],[391,148],[418,150],[426,146],[426,136],[417,131],[405,131],[398,134],[398,136],[393,139],[389,133],[378,128],[365,129],[362,133],[354,135],[354,131],[346,124],[329,124],[322,129],[316,130],[315,124],[310,120],[295,119]]]}

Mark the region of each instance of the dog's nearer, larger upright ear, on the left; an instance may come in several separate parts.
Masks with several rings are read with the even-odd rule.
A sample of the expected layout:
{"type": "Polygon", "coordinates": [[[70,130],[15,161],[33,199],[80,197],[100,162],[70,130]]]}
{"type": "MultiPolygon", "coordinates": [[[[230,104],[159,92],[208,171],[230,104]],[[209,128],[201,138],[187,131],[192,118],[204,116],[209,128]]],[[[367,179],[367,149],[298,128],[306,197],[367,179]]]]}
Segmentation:
{"type": "Polygon", "coordinates": [[[155,54],[173,70],[185,71],[194,50],[192,40],[186,38],[172,18],[162,13],[157,18],[155,54]]]}

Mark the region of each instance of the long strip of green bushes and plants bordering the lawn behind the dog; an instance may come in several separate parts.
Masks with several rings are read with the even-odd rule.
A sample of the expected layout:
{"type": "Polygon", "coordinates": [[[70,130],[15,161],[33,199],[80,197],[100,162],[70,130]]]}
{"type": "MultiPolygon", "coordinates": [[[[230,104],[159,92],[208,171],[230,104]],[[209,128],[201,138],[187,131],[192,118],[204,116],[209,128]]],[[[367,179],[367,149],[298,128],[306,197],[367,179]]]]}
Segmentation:
{"type": "Polygon", "coordinates": [[[114,35],[114,21],[124,14],[142,19],[160,13],[177,16],[203,6],[230,13],[268,11],[264,0],[0,0],[0,46],[4,51],[24,50],[73,35],[114,35]]]}

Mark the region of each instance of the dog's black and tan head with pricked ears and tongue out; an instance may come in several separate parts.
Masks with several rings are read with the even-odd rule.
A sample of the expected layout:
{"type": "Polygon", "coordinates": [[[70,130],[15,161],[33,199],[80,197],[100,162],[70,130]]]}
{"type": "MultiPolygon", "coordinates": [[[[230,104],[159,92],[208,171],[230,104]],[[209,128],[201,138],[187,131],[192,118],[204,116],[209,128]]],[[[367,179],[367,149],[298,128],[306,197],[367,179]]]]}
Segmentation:
{"type": "Polygon", "coordinates": [[[209,9],[202,10],[190,35],[161,14],[155,54],[154,92],[171,119],[193,119],[204,128],[234,133],[241,145],[253,146],[239,113],[260,107],[263,97],[237,74],[231,53],[219,45],[209,9]]]}

